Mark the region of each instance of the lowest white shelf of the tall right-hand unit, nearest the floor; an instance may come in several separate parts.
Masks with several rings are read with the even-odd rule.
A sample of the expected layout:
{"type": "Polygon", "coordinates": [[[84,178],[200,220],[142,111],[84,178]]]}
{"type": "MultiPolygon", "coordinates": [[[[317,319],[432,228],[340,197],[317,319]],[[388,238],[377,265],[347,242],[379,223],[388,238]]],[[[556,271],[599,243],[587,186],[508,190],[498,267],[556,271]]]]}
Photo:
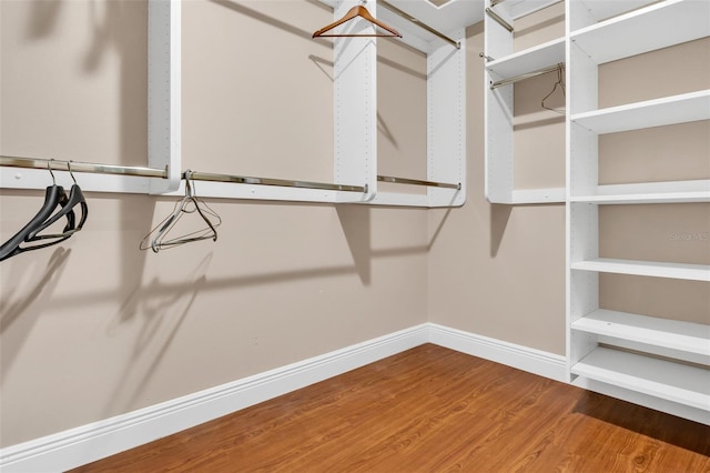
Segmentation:
{"type": "Polygon", "coordinates": [[[574,374],[668,401],[710,410],[710,370],[597,348],[571,369],[574,374]]]}

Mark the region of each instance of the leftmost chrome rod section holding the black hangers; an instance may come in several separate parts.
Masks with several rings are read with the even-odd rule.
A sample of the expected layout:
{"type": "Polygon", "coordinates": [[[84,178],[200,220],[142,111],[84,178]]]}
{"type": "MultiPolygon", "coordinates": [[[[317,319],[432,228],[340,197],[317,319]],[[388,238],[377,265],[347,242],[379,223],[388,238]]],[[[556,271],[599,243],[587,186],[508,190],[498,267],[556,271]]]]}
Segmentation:
{"type": "Polygon", "coordinates": [[[165,169],[143,168],[138,165],[113,165],[98,164],[93,162],[64,161],[41,158],[18,158],[0,157],[0,167],[29,168],[29,169],[52,169],[55,171],[93,172],[97,174],[120,174],[138,175],[142,178],[168,179],[168,167],[165,169]]]}

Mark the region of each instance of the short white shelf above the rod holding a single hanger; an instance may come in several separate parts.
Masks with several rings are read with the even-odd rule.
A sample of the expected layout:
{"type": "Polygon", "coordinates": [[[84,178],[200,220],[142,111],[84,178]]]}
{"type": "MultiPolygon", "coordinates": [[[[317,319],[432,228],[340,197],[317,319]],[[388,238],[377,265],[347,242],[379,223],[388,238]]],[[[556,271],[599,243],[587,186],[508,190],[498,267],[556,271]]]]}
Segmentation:
{"type": "Polygon", "coordinates": [[[497,80],[503,80],[560,62],[565,62],[565,38],[490,61],[486,69],[495,74],[497,80]]]}

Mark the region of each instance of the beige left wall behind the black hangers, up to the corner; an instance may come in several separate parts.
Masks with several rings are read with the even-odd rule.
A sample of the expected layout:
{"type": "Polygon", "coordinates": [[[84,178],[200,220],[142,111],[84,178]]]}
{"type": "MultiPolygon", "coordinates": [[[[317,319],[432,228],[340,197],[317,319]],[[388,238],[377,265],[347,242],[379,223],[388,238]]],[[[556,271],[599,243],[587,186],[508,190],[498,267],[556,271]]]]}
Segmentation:
{"type": "MultiPolygon", "coordinates": [[[[0,152],[144,164],[146,3],[0,9],[0,152]]],[[[332,40],[311,33],[332,10],[215,0],[184,2],[183,16],[184,168],[331,181],[332,40]]],[[[419,58],[393,54],[382,60],[404,54],[407,69],[383,71],[383,89],[405,73],[424,82],[419,58]]],[[[408,100],[426,107],[425,94],[408,100]]],[[[382,130],[408,142],[409,119],[387,107],[382,130]]],[[[0,239],[42,199],[0,191],[0,239]]],[[[81,233],[0,264],[2,446],[426,321],[425,210],[210,200],[216,242],[139,251],[175,200],[88,193],[81,233]]]]}

